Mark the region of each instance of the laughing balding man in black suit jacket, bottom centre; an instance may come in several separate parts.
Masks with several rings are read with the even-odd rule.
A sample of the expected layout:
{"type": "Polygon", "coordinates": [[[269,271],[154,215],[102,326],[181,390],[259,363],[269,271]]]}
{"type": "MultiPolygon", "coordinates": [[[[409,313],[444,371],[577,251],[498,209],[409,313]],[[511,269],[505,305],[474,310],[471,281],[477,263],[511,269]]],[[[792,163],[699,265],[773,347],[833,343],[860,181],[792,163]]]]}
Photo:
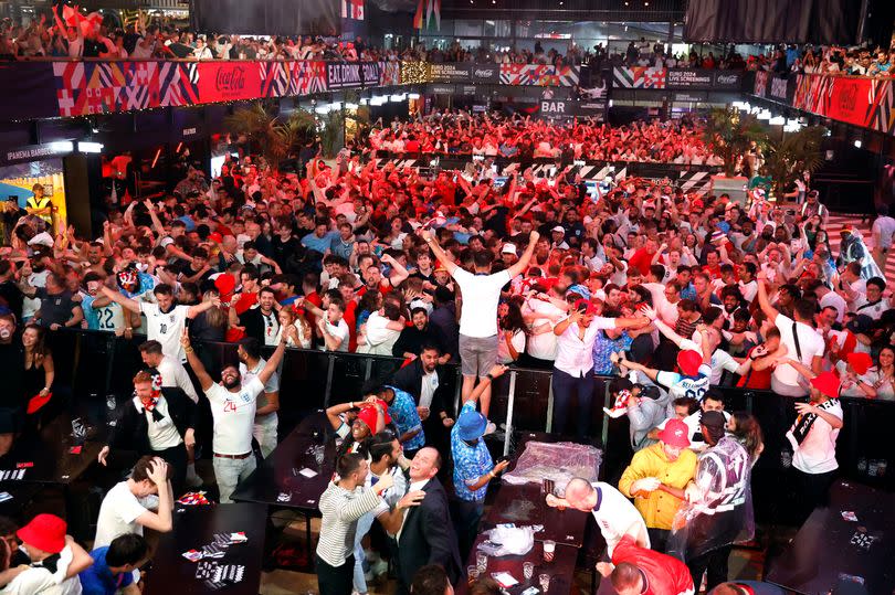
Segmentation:
{"type": "Polygon", "coordinates": [[[398,541],[398,593],[407,595],[417,571],[427,564],[440,564],[451,583],[462,576],[456,535],[448,509],[448,492],[435,478],[441,455],[423,447],[410,464],[410,490],[422,490],[420,506],[408,510],[396,536],[398,541]]]}

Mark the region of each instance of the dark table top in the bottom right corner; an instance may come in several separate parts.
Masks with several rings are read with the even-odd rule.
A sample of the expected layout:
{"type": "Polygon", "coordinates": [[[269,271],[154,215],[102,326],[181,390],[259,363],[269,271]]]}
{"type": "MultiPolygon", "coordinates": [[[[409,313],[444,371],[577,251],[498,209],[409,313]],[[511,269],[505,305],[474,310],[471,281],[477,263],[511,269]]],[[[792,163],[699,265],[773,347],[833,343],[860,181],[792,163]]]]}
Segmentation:
{"type": "Polygon", "coordinates": [[[809,517],[789,548],[770,562],[767,581],[798,593],[834,589],[841,574],[860,576],[867,593],[895,591],[895,495],[838,481],[830,506],[809,517]],[[857,521],[847,521],[851,511],[857,521]],[[872,542],[865,548],[860,542],[872,542]]]}

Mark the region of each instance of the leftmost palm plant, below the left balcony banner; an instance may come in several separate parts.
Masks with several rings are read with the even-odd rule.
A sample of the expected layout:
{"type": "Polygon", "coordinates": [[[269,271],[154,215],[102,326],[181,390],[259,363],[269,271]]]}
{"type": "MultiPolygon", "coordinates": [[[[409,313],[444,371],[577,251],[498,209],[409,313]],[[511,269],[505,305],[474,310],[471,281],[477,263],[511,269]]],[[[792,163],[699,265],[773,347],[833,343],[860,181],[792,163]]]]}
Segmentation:
{"type": "Polygon", "coordinates": [[[252,144],[262,157],[277,171],[281,163],[315,134],[314,116],[304,109],[294,109],[287,115],[273,115],[264,104],[255,102],[238,107],[224,118],[231,134],[252,144]]]}

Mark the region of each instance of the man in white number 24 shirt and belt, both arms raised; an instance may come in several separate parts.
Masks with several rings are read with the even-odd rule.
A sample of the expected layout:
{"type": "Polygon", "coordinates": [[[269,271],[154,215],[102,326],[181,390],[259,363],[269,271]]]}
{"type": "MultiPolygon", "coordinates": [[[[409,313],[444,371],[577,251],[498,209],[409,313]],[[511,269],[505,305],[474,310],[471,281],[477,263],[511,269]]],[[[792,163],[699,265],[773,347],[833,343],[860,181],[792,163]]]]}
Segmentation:
{"type": "MultiPolygon", "coordinates": [[[[208,302],[206,302],[208,304],[208,302]]],[[[230,496],[240,481],[255,470],[255,457],[252,454],[252,433],[254,431],[257,396],[264,392],[264,384],[276,372],[286,351],[287,334],[283,333],[271,360],[254,378],[242,383],[239,368],[228,365],[221,371],[221,383],[215,383],[206,366],[190,347],[190,337],[183,329],[180,343],[187,354],[192,371],[211,404],[211,416],[214,421],[211,447],[214,451],[214,478],[218,481],[221,503],[231,502],[230,496]]]]}

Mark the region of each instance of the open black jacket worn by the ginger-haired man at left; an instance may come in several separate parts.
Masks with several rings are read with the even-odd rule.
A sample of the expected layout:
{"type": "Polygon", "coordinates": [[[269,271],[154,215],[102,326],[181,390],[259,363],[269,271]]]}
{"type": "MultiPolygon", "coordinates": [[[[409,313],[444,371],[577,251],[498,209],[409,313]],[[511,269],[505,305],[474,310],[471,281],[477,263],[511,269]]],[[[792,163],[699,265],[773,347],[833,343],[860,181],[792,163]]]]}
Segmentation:
{"type": "MultiPolygon", "coordinates": [[[[182,438],[187,429],[196,428],[198,412],[196,403],[178,387],[165,386],[161,389],[161,395],[168,404],[168,414],[171,416],[175,427],[177,427],[177,433],[182,438]]],[[[143,413],[143,405],[137,408],[138,403],[139,401],[135,396],[122,407],[118,422],[108,436],[110,448],[135,450],[140,455],[151,453],[148,434],[149,423],[143,413]]]]}

